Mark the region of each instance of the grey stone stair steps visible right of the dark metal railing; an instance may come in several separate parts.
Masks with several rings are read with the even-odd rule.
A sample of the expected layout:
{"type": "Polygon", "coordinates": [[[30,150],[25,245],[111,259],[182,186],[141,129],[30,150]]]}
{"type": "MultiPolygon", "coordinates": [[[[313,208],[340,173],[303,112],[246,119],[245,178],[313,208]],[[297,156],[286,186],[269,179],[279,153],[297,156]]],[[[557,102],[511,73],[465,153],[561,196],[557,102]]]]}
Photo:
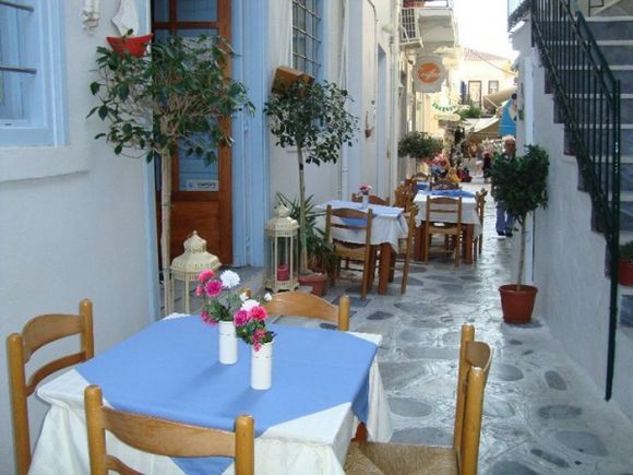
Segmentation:
{"type": "MultiPolygon", "coordinates": [[[[633,240],[633,0],[605,2],[589,13],[587,23],[621,85],[620,242],[626,242],[633,240]]],[[[620,328],[633,329],[633,287],[620,286],[619,301],[620,328]]]]}

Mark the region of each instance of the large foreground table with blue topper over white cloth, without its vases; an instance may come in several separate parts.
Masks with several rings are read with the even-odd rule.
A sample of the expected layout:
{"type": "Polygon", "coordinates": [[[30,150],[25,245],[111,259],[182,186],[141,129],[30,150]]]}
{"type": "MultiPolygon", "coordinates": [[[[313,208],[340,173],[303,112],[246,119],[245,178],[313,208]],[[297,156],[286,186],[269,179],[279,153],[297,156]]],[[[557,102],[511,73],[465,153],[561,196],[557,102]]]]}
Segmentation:
{"type": "MultiPolygon", "coordinates": [[[[83,392],[98,384],[105,404],[187,424],[234,430],[255,424],[256,474],[344,474],[359,423],[368,439],[389,441],[390,411],[375,358],[380,335],[287,324],[275,332],[273,384],[250,387],[251,346],[234,365],[218,361],[217,325],[172,314],[43,384],[50,404],[31,474],[88,474],[83,392]]],[[[108,452],[145,474],[232,473],[232,459],[150,454],[108,438],[108,452]]]]}

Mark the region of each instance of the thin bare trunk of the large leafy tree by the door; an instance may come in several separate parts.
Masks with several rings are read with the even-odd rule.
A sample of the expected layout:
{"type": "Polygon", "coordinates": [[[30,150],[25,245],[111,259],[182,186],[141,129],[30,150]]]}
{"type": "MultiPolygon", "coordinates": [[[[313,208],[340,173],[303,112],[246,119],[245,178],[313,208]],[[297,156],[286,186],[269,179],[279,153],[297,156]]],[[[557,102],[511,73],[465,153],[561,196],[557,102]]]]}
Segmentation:
{"type": "Polygon", "coordinates": [[[171,155],[165,150],[160,153],[160,271],[163,273],[163,299],[165,314],[170,314],[171,308],[171,155]]]}

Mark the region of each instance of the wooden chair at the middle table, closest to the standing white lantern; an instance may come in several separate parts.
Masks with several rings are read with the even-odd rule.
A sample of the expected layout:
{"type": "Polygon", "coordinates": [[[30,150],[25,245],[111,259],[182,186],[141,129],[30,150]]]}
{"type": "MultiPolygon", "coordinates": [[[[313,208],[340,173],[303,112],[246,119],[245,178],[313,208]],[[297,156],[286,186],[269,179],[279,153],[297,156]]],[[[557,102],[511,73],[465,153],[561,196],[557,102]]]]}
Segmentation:
{"type": "Polygon", "coordinates": [[[373,213],[371,209],[368,209],[367,211],[351,210],[348,207],[334,210],[331,205],[327,205],[327,213],[325,215],[325,240],[330,241],[332,239],[334,250],[338,257],[336,276],[341,276],[342,259],[362,262],[360,298],[363,300],[367,297],[367,292],[371,286],[371,283],[373,282],[373,274],[375,272],[375,249],[371,246],[372,218],[373,213]],[[365,244],[345,242],[334,239],[332,237],[333,229],[363,233],[365,244]]]}

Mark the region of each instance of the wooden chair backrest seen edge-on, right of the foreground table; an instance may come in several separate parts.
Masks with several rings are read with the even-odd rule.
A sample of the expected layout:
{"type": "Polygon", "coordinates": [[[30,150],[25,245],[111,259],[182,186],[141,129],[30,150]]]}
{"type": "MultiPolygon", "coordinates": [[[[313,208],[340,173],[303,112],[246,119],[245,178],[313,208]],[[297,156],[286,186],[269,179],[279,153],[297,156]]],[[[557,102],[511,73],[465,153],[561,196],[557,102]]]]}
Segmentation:
{"type": "Polygon", "coordinates": [[[476,342],[475,328],[471,324],[464,324],[459,346],[453,438],[461,475],[477,475],[483,392],[491,361],[490,346],[483,342],[476,342]]]}

